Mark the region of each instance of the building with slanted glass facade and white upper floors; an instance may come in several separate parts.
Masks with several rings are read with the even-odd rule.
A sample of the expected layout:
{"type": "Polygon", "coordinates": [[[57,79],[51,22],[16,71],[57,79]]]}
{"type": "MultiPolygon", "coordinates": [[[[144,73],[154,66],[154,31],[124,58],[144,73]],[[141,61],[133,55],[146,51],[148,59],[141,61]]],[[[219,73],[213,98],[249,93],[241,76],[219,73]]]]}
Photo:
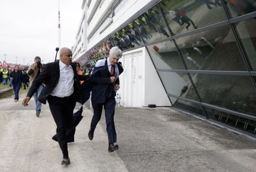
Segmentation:
{"type": "Polygon", "coordinates": [[[167,97],[176,109],[256,136],[255,0],[96,0],[82,8],[74,60],[90,68],[119,46],[122,84],[134,87],[121,89],[121,105],[133,106],[126,102],[138,98],[127,95],[143,86],[134,106],[168,105],[167,97]]]}

